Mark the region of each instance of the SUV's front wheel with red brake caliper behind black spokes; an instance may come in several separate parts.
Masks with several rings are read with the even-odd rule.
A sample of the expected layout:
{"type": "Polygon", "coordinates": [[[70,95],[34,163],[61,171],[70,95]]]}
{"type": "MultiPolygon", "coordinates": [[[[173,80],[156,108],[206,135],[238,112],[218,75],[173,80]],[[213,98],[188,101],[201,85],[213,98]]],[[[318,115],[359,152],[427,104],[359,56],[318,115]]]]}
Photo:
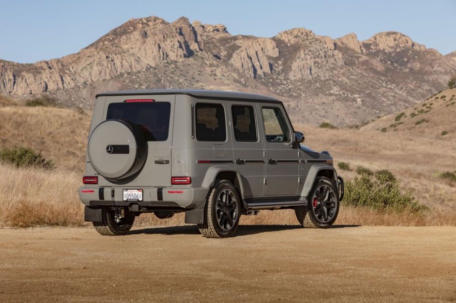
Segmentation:
{"type": "Polygon", "coordinates": [[[299,223],[306,228],[328,228],[333,225],[339,214],[340,204],[339,193],[331,179],[318,178],[308,197],[308,210],[301,206],[295,209],[299,223]]]}

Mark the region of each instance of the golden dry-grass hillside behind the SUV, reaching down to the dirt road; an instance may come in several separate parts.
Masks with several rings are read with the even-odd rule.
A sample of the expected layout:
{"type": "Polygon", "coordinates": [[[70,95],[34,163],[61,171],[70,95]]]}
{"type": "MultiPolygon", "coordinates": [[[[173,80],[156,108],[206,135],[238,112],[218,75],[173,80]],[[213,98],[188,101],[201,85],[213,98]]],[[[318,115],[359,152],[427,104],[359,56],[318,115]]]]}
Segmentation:
{"type": "MultiPolygon", "coordinates": [[[[439,124],[451,132],[456,122],[437,114],[441,107],[448,114],[456,106],[445,106],[449,99],[440,99],[443,93],[448,97],[447,92],[435,96],[439,99],[433,102],[432,109],[421,114],[429,123],[415,126],[413,122],[421,117],[410,118],[406,110],[404,124],[397,131],[379,130],[397,114],[361,130],[295,125],[296,130],[305,133],[305,145],[318,151],[329,150],[336,165],[341,161],[348,163],[351,170],[338,169],[346,179],[357,175],[357,166],[388,169],[401,181],[403,189],[412,189],[417,200],[431,209],[425,216],[408,216],[345,207],[338,224],[456,225],[456,182],[441,177],[442,172],[456,171],[456,146],[451,137],[454,134],[438,134],[439,124]]],[[[15,145],[31,147],[53,160],[56,168],[44,171],[0,164],[4,179],[0,184],[0,226],[84,224],[77,188],[81,185],[90,114],[66,108],[14,105],[12,100],[2,102],[0,149],[15,145]]],[[[182,214],[165,221],[147,215],[139,223],[175,225],[184,221],[182,214]]],[[[241,223],[295,224],[296,219],[292,211],[264,211],[259,216],[244,217],[241,223]]]]}

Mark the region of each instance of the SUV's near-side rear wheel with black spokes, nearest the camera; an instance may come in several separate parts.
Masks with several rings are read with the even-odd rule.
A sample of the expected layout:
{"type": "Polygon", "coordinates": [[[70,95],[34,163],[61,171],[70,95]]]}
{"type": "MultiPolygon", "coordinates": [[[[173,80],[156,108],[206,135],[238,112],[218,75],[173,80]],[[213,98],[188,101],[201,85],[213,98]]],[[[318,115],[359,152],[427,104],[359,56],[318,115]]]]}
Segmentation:
{"type": "Polygon", "coordinates": [[[204,223],[198,228],[207,238],[225,238],[233,235],[241,216],[238,191],[228,180],[216,180],[204,208],[204,223]]]}

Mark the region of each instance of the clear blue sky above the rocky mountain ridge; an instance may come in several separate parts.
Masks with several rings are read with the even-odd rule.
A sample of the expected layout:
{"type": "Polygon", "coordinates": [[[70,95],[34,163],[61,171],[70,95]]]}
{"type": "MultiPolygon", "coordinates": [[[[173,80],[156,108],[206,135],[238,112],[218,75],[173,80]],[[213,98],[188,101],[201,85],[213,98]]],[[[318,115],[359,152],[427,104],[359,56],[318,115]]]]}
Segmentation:
{"type": "Polygon", "coordinates": [[[333,38],[395,30],[442,54],[456,50],[456,0],[118,1],[0,0],[0,59],[21,63],[77,52],[130,18],[224,24],[232,34],[271,37],[305,27],[333,38]]]}

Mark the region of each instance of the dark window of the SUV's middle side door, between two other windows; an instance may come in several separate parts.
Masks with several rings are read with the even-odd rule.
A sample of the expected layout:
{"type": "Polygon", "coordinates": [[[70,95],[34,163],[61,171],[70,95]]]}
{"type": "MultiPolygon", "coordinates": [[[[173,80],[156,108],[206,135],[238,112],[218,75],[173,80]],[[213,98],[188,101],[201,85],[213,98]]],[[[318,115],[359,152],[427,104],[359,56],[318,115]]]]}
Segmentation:
{"type": "Polygon", "coordinates": [[[256,142],[255,113],[251,106],[236,105],[231,108],[236,141],[256,142]]]}

